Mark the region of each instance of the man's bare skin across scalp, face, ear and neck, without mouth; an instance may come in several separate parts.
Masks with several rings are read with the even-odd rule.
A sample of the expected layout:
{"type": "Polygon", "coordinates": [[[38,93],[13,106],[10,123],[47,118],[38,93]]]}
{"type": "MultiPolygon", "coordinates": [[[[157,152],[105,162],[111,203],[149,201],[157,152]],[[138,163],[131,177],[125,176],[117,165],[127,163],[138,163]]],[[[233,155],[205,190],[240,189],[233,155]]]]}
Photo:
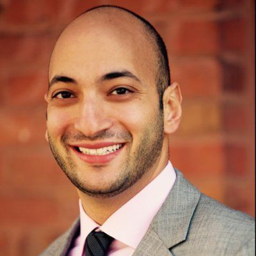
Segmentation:
{"type": "Polygon", "coordinates": [[[109,9],[74,20],[52,52],[46,138],[65,165],[64,172],[79,180],[77,193],[84,209],[100,225],[168,162],[168,136],[179,126],[182,98],[179,84],[173,83],[164,92],[163,111],[159,110],[154,49],[140,21],[109,9]],[[102,78],[124,70],[132,77],[102,78]],[[56,76],[72,80],[52,81],[56,76]],[[125,88],[124,94],[120,88],[125,88]],[[68,97],[62,99],[63,95],[68,97]],[[102,164],[87,163],[70,148],[102,141],[125,146],[102,164]]]}

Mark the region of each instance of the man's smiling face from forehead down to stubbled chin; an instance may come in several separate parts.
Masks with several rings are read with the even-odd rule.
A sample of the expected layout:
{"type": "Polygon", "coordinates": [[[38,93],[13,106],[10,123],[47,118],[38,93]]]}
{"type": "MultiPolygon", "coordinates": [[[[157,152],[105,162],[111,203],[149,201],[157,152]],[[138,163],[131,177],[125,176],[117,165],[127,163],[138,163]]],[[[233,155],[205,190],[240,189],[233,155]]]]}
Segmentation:
{"type": "Polygon", "coordinates": [[[144,37],[134,42],[127,31],[70,29],[52,54],[49,144],[68,178],[88,195],[121,193],[161,155],[163,113],[144,37]]]}

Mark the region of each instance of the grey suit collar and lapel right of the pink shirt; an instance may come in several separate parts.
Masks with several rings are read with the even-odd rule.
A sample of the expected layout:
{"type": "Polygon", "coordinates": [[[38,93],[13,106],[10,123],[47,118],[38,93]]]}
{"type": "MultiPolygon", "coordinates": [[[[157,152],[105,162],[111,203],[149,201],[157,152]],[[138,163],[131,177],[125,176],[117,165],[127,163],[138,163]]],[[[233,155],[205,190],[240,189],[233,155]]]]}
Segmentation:
{"type": "Polygon", "coordinates": [[[175,184],[133,256],[170,256],[172,252],[169,249],[186,240],[200,192],[184,179],[182,173],[175,171],[175,184]]]}

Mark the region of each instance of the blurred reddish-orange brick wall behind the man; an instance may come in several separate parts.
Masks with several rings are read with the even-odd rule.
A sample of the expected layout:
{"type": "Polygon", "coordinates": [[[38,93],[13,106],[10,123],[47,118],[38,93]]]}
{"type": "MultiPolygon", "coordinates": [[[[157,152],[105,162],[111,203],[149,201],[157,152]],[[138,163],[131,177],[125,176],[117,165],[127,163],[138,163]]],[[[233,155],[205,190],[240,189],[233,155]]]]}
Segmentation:
{"type": "Polygon", "coordinates": [[[148,19],[183,93],[170,159],[202,192],[254,211],[254,1],[0,0],[0,255],[38,255],[78,215],[45,141],[47,66],[61,30],[97,4],[148,19]]]}

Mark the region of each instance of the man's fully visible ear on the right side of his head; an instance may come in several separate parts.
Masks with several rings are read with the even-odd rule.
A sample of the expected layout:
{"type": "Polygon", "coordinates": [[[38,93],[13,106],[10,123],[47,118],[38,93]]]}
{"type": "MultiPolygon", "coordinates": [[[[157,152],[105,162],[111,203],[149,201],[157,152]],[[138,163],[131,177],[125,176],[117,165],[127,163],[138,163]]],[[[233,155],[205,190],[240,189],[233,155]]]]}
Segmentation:
{"type": "Polygon", "coordinates": [[[172,134],[180,124],[182,95],[178,83],[172,83],[163,95],[164,106],[164,132],[172,134]]]}

